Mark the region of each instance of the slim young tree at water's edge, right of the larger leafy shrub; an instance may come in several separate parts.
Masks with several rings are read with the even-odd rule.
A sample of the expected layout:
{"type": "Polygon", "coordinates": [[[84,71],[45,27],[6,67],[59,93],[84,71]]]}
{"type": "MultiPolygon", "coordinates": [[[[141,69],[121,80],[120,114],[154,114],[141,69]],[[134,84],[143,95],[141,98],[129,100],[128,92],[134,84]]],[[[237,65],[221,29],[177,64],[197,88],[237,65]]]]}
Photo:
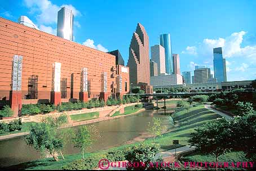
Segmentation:
{"type": "MultiPolygon", "coordinates": [[[[82,150],[82,155],[84,154],[84,150],[92,144],[91,134],[89,129],[86,126],[81,126],[78,129],[78,133],[76,134],[76,138],[74,138],[74,147],[78,147],[82,150]]],[[[85,156],[83,155],[83,159],[85,156]]]]}

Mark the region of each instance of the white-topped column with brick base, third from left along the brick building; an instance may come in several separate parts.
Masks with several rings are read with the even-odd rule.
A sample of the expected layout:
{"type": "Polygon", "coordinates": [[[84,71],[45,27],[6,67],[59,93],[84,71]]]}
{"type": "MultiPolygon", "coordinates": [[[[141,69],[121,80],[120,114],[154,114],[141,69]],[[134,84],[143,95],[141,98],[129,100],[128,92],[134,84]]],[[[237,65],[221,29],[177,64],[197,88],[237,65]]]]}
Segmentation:
{"type": "Polygon", "coordinates": [[[79,93],[79,100],[88,101],[88,69],[81,69],[81,91],[79,93]]]}

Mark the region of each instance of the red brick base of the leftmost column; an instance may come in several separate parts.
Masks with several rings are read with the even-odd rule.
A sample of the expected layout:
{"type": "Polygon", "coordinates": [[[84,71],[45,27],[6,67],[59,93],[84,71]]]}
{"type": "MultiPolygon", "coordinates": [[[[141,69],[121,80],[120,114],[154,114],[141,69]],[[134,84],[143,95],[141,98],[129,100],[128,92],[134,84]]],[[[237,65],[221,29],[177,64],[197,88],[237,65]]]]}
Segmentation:
{"type": "Polygon", "coordinates": [[[21,91],[10,91],[10,106],[11,109],[14,111],[14,118],[17,116],[20,116],[21,114],[21,107],[22,107],[22,103],[21,103],[21,99],[22,99],[22,93],[21,91]]]}

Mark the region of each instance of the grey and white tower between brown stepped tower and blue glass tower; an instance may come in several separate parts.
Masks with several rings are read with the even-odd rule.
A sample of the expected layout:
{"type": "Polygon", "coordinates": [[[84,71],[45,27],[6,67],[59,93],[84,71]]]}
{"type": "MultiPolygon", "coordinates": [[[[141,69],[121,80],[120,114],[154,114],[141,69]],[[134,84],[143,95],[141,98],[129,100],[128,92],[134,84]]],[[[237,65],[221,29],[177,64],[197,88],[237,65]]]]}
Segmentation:
{"type": "Polygon", "coordinates": [[[165,73],[165,48],[161,45],[151,47],[151,59],[157,63],[158,74],[165,73]]]}

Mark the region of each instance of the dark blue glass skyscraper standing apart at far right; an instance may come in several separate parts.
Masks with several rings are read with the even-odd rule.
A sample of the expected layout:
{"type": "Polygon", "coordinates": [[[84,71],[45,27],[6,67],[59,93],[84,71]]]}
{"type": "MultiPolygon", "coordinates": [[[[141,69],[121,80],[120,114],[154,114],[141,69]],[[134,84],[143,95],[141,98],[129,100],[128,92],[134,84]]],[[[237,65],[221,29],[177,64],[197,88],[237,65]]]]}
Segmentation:
{"type": "Polygon", "coordinates": [[[223,59],[222,48],[213,48],[213,66],[214,66],[214,78],[217,78],[218,82],[226,82],[226,59],[223,59]]]}

